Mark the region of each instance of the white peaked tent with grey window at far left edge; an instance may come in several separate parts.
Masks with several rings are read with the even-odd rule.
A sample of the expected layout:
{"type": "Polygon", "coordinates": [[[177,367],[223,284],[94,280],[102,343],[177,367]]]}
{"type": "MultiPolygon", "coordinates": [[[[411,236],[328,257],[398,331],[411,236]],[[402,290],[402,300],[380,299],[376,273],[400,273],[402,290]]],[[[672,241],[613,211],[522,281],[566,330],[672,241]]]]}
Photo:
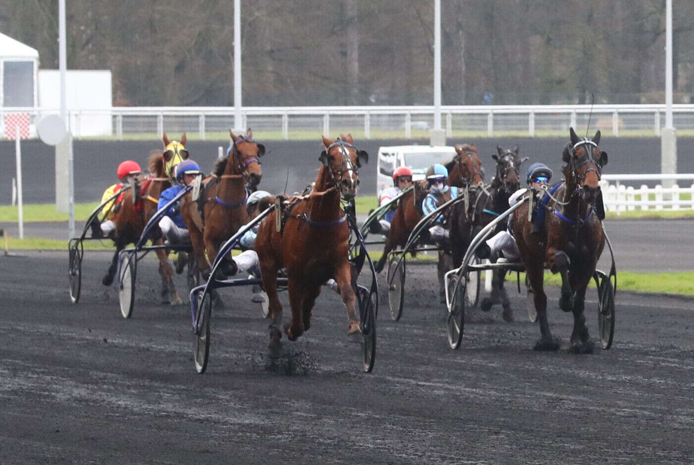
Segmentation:
{"type": "Polygon", "coordinates": [[[0,107],[37,106],[39,52],[0,33],[0,107]]]}

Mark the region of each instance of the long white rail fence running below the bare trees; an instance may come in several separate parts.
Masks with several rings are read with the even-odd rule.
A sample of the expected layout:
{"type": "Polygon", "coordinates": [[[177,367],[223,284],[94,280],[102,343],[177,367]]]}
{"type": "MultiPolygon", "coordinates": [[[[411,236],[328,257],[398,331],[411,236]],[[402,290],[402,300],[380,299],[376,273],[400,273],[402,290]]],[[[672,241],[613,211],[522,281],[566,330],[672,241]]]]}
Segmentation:
{"type": "MultiPolygon", "coordinates": [[[[672,105],[675,127],[694,130],[694,104],[672,105]]],[[[444,105],[443,126],[448,137],[457,133],[479,136],[514,134],[536,137],[564,134],[569,126],[591,128],[608,135],[660,135],[665,105],[444,105]],[[592,114],[591,114],[592,111],[592,114]]],[[[0,133],[7,113],[29,113],[32,126],[57,108],[0,108],[0,133]]],[[[230,127],[253,128],[264,137],[306,139],[316,133],[351,132],[358,137],[428,137],[433,106],[244,107],[234,121],[232,107],[112,107],[108,110],[69,110],[74,137],[148,137],[186,132],[192,137],[223,139],[230,127]]],[[[35,130],[34,130],[35,133],[35,130]]]]}

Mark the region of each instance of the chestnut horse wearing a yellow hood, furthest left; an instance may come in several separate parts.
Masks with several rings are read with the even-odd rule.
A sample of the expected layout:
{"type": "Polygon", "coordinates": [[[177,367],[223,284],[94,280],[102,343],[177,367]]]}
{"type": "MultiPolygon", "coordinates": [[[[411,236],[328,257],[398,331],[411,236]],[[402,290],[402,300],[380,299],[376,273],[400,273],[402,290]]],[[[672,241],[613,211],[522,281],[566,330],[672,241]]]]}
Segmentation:
{"type": "MultiPolygon", "coordinates": [[[[126,245],[137,242],[147,220],[157,211],[160,194],[164,189],[171,187],[171,169],[188,158],[188,151],[185,150],[187,141],[185,133],[180,138],[180,142],[169,141],[166,134],[162,140],[164,151],[153,151],[149,156],[149,176],[138,178],[135,186],[133,186],[133,192],[137,198],[133,201],[133,195],[126,195],[114,219],[116,229],[113,240],[116,244],[116,252],[110,267],[108,267],[108,273],[102,280],[105,286],[109,286],[113,282],[118,266],[119,252],[126,245]]],[[[155,230],[158,234],[151,238],[152,244],[163,245],[164,237],[158,228],[155,230]]],[[[174,270],[169,263],[169,252],[164,249],[157,249],[155,252],[159,259],[159,274],[162,277],[162,301],[169,301],[171,305],[180,305],[183,301],[178,296],[178,291],[174,285],[174,270]]]]}

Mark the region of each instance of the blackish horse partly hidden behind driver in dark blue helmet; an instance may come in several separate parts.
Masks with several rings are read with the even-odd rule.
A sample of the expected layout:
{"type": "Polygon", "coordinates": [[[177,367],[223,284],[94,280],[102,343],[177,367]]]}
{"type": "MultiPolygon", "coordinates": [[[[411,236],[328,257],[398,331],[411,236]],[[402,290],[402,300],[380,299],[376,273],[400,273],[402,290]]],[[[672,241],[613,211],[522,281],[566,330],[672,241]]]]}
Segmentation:
{"type": "MultiPolygon", "coordinates": [[[[521,168],[521,164],[528,159],[527,157],[521,158],[518,156],[519,149],[517,145],[514,146],[513,149],[502,149],[497,145],[496,151],[498,154],[491,155],[492,158],[496,160],[496,176],[494,176],[489,186],[492,199],[489,210],[493,212],[491,218],[489,216],[487,217],[490,221],[493,219],[493,216],[502,214],[508,210],[509,197],[521,188],[521,175],[518,170],[521,168]]],[[[486,223],[489,223],[489,221],[484,222],[484,224],[486,223]]],[[[494,233],[496,234],[506,227],[507,225],[502,223],[497,226],[494,233]]],[[[504,289],[506,273],[506,269],[494,269],[492,271],[491,297],[482,299],[480,307],[483,312],[489,312],[495,303],[501,303],[504,309],[501,314],[502,318],[504,321],[511,322],[514,321],[513,310],[511,310],[509,294],[506,289],[504,289]]]]}

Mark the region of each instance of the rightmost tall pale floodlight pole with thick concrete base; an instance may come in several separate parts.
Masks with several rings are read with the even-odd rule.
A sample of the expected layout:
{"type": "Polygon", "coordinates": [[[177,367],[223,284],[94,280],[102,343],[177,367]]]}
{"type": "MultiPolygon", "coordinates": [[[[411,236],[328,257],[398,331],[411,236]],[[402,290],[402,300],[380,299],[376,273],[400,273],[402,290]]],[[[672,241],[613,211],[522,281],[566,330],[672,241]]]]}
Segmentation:
{"type": "MultiPolygon", "coordinates": [[[[661,173],[677,173],[677,133],[672,124],[672,0],[666,0],[665,12],[665,127],[661,131],[661,173]]],[[[663,179],[663,187],[674,184],[663,179]]],[[[666,195],[670,198],[670,195],[666,195]]]]}

